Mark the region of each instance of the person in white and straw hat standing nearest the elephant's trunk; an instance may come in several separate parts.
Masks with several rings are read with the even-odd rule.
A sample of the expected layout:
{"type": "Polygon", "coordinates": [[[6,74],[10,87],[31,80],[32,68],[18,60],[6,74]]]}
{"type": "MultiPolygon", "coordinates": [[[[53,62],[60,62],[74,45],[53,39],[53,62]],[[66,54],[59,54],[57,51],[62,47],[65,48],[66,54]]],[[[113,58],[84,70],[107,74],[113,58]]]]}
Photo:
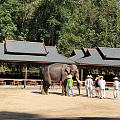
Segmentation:
{"type": "Polygon", "coordinates": [[[88,97],[93,97],[92,86],[93,86],[92,75],[87,75],[87,79],[85,80],[85,87],[88,97]]]}

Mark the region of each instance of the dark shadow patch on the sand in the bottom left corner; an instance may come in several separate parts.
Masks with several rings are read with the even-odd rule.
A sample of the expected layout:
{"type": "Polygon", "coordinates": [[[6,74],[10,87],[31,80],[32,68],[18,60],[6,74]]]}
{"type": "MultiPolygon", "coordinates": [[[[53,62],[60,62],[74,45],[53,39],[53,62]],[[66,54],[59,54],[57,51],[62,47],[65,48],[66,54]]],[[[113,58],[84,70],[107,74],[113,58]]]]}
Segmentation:
{"type": "Polygon", "coordinates": [[[0,119],[34,119],[34,118],[44,118],[44,116],[37,114],[8,112],[8,111],[0,112],[0,119]]]}

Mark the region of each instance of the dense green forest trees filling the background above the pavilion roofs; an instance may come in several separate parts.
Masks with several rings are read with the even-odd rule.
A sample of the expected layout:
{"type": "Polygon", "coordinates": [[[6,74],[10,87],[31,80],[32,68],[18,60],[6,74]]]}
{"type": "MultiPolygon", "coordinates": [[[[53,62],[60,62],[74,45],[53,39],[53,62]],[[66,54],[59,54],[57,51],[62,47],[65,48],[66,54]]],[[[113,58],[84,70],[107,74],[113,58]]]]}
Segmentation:
{"type": "Polygon", "coordinates": [[[82,47],[120,47],[117,0],[1,0],[0,11],[1,41],[45,42],[65,56],[82,47]]]}

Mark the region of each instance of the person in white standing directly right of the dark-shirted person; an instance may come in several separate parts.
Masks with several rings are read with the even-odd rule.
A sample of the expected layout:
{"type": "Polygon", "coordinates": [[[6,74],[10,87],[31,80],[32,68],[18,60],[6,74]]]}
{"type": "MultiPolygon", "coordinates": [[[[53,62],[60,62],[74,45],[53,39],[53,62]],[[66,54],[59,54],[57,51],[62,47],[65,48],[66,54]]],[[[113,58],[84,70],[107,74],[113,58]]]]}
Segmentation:
{"type": "Polygon", "coordinates": [[[101,99],[105,99],[105,80],[103,80],[103,76],[99,76],[99,86],[100,86],[100,93],[101,93],[101,99]]]}

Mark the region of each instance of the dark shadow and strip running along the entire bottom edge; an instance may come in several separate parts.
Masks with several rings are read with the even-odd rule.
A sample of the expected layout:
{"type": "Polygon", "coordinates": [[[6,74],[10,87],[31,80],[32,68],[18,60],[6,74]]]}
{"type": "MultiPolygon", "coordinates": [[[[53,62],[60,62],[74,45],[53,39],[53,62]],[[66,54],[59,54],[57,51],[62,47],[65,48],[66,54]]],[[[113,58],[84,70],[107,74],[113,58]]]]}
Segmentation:
{"type": "Polygon", "coordinates": [[[107,118],[107,117],[61,117],[61,118],[46,118],[42,115],[17,113],[17,112],[0,112],[0,119],[15,119],[15,120],[120,120],[120,118],[107,118]]]}

